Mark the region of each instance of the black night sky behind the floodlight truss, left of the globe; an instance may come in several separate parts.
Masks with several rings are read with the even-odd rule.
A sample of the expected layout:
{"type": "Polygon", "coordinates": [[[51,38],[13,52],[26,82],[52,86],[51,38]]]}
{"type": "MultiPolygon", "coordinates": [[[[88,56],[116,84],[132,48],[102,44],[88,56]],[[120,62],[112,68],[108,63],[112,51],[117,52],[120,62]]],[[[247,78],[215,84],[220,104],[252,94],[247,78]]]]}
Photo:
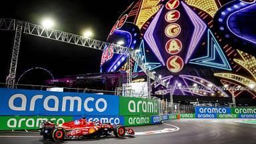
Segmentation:
{"type": "MultiPolygon", "coordinates": [[[[115,21],[133,1],[1,1],[0,17],[41,25],[41,19],[48,16],[55,20],[53,29],[82,35],[83,29],[90,28],[94,39],[105,41],[115,21]]],[[[9,73],[13,38],[14,32],[0,31],[0,83],[5,83],[9,73]]],[[[94,49],[23,34],[16,78],[32,67],[43,67],[51,71],[55,78],[99,73],[101,53],[94,49]]],[[[43,70],[33,70],[26,73],[19,83],[39,85],[50,78],[43,70]]]]}

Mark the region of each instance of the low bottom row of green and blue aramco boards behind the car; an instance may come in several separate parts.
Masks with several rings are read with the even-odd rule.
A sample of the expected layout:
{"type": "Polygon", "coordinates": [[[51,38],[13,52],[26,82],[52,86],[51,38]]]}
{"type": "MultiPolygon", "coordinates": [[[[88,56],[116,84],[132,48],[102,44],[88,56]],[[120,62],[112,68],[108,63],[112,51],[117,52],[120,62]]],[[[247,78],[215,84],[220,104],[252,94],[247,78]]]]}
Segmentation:
{"type": "MultiPolygon", "coordinates": [[[[161,123],[168,119],[177,119],[177,115],[157,115],[157,116],[85,116],[87,121],[100,121],[101,123],[111,123],[112,125],[153,125],[161,123]]],[[[81,119],[81,117],[72,116],[1,116],[0,130],[21,130],[21,129],[39,129],[41,121],[53,121],[56,124],[65,123],[81,119]]]]}

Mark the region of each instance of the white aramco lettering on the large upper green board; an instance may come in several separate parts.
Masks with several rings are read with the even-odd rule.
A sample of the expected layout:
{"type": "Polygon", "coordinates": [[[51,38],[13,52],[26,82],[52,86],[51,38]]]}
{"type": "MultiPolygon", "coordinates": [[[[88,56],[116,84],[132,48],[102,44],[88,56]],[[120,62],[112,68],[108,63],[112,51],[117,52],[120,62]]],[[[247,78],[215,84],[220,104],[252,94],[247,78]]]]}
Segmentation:
{"type": "Polygon", "coordinates": [[[128,103],[128,110],[131,113],[139,113],[142,109],[143,113],[157,113],[158,105],[157,102],[151,101],[137,101],[137,103],[133,100],[130,100],[128,103]]]}

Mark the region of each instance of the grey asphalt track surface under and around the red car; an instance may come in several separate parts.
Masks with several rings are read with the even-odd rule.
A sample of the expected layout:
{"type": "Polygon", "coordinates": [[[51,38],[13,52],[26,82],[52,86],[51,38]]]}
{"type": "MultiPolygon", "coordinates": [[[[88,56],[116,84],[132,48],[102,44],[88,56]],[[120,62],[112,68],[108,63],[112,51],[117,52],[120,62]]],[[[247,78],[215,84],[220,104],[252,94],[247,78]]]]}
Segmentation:
{"type": "MultiPolygon", "coordinates": [[[[179,127],[177,131],[171,133],[161,133],[154,135],[135,135],[134,137],[115,137],[101,139],[80,139],[63,141],[61,143],[147,143],[147,144],[253,144],[256,143],[256,125],[246,123],[236,123],[237,119],[181,119],[165,121],[161,125],[150,125],[143,127],[132,127],[135,131],[154,131],[165,128],[179,127]]],[[[35,132],[0,132],[0,143],[13,144],[50,144],[57,143],[43,140],[39,133],[35,132]],[[19,137],[21,136],[21,137],[19,137]]]]}

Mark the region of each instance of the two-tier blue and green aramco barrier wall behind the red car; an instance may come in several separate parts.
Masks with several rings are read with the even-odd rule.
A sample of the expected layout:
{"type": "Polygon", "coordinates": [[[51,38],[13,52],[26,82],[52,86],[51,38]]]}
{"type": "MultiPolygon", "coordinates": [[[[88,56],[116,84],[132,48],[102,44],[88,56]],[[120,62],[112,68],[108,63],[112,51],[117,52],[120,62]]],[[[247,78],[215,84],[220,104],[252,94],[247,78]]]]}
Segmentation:
{"type": "Polygon", "coordinates": [[[160,113],[158,99],[1,88],[0,97],[0,130],[38,129],[43,120],[59,124],[81,117],[113,125],[151,125],[151,117],[160,113]]]}

